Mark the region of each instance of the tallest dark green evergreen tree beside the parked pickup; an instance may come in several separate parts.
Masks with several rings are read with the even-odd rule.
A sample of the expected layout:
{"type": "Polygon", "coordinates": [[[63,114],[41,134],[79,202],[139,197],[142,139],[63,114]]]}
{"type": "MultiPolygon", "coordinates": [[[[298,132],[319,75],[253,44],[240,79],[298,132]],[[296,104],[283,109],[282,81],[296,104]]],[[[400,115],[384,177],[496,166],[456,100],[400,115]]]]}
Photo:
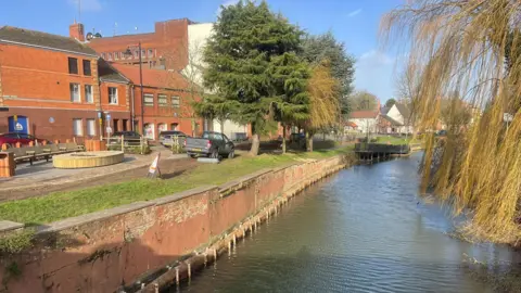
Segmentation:
{"type": "Polygon", "coordinates": [[[283,92],[272,80],[272,63],[285,53],[296,52],[301,30],[265,1],[240,1],[223,7],[204,51],[208,64],[204,82],[227,101],[237,102],[230,118],[252,125],[251,154],[256,155],[259,135],[276,129],[276,107],[283,92]]]}

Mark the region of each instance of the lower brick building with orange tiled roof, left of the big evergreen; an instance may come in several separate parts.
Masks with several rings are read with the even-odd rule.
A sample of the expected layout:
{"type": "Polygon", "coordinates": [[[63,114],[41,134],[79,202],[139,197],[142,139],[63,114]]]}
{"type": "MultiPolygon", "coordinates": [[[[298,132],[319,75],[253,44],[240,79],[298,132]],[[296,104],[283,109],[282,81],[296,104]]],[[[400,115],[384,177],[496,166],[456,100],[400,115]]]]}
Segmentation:
{"type": "Polygon", "coordinates": [[[188,91],[189,82],[177,72],[143,68],[143,102],[141,103],[141,89],[139,66],[112,64],[119,73],[131,82],[130,95],[134,97],[134,113],[136,130],[141,132],[141,122],[144,133],[149,139],[157,140],[158,133],[165,130],[180,130],[187,135],[200,135],[202,120],[193,118],[192,98],[188,91]]]}

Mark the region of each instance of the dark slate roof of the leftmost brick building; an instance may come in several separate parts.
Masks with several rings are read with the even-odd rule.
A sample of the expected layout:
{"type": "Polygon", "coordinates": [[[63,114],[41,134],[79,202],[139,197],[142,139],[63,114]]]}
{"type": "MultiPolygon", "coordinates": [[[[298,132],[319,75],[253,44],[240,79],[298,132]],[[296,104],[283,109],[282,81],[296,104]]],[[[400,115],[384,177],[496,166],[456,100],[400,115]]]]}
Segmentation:
{"type": "Polygon", "coordinates": [[[76,39],[12,26],[0,27],[0,42],[97,56],[92,48],[76,39]]]}

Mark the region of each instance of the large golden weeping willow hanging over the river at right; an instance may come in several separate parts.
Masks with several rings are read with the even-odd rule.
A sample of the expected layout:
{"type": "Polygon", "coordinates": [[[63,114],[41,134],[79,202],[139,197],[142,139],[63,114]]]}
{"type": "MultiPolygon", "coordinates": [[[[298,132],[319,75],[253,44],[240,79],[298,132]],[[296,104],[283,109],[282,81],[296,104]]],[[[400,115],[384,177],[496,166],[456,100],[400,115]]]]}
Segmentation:
{"type": "MultiPolygon", "coordinates": [[[[427,139],[422,186],[456,214],[472,211],[465,231],[495,242],[521,239],[520,12],[513,0],[416,0],[382,21],[386,41],[409,46],[419,130],[435,128],[452,92],[472,109],[465,131],[449,125],[445,140],[427,139]]],[[[448,113],[448,123],[459,114],[448,113]]]]}

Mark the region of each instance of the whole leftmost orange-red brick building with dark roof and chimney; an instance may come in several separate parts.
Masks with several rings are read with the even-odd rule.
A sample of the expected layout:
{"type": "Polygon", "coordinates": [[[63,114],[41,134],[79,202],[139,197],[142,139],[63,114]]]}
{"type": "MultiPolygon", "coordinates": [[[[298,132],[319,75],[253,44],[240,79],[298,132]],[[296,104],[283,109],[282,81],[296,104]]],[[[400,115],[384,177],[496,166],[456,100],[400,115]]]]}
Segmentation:
{"type": "Polygon", "coordinates": [[[71,36],[0,28],[0,132],[98,137],[100,113],[111,113],[122,128],[130,118],[129,81],[110,66],[99,74],[98,54],[81,42],[81,24],[71,26],[71,36]]]}

